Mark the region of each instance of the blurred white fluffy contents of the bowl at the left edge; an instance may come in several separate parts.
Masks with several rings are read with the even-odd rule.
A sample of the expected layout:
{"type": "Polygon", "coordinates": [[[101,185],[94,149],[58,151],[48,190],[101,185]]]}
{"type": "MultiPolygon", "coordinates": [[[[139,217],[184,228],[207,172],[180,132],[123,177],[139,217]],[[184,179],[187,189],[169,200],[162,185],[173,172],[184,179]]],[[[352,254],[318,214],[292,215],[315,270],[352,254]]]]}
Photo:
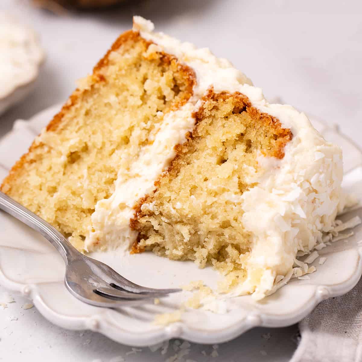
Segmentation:
{"type": "Polygon", "coordinates": [[[0,13],[0,99],[36,78],[43,56],[34,31],[0,13]]]}

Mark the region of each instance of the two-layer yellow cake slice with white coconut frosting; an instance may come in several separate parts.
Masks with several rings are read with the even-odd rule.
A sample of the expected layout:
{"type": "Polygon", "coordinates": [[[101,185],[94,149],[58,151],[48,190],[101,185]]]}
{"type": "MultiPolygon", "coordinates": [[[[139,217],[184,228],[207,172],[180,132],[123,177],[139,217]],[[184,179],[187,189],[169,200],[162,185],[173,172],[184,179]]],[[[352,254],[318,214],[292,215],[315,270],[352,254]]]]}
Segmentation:
{"type": "Polygon", "coordinates": [[[1,190],[80,251],[210,264],[223,290],[262,298],[334,227],[341,149],[227,60],[152,30],[134,17],[1,190]]]}

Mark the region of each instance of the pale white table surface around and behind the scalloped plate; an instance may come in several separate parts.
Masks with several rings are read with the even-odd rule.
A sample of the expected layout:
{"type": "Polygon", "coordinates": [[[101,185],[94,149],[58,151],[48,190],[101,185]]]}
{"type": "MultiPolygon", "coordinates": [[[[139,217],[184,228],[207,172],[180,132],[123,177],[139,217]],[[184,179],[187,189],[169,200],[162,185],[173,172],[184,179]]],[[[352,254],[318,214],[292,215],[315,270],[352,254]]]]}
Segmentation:
{"type": "MultiPolygon", "coordinates": [[[[136,3],[136,1],[133,1],[136,3]]],[[[132,3],[132,1],[131,1],[132,3]]],[[[21,104],[0,116],[0,136],[18,119],[28,119],[64,101],[75,80],[92,70],[131,15],[150,18],[156,29],[230,59],[267,98],[338,124],[360,142],[362,131],[362,3],[349,1],[148,0],[102,13],[55,16],[35,9],[28,0],[1,0],[6,10],[41,35],[47,59],[37,88],[21,104]]],[[[45,271],[46,272],[46,271],[45,271]]],[[[0,286],[1,295],[5,292],[0,286]]],[[[27,301],[0,307],[0,361],[117,362],[165,361],[160,350],[126,354],[131,347],[89,331],[67,331],[43,318],[27,301]]],[[[289,361],[295,350],[296,326],[256,328],[218,348],[192,344],[185,359],[193,361],[289,361]],[[270,333],[270,339],[262,334],[270,333]],[[207,356],[202,354],[205,351],[207,356]]]]}

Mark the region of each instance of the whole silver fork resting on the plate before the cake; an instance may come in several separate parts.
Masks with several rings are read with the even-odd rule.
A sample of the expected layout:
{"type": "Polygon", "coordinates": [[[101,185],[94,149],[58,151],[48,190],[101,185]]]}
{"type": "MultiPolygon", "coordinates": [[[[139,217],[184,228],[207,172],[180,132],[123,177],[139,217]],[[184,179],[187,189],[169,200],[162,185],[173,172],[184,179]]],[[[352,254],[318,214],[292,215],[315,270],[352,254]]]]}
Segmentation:
{"type": "Polygon", "coordinates": [[[97,307],[116,308],[150,302],[180,289],[139,286],[108,265],[83,255],[53,226],[0,191],[0,209],[40,232],[66,263],[64,283],[76,298],[97,307]]]}

